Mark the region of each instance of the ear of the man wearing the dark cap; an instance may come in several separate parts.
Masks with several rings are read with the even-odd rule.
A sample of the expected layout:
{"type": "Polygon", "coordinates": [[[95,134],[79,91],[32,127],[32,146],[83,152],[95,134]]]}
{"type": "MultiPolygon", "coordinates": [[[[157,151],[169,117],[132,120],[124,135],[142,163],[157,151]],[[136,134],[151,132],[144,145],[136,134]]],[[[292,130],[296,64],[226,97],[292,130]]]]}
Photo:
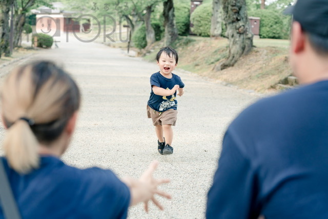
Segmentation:
{"type": "Polygon", "coordinates": [[[292,25],[292,43],[291,48],[293,53],[300,53],[305,48],[305,34],[301,25],[298,22],[293,22],[292,25]]]}

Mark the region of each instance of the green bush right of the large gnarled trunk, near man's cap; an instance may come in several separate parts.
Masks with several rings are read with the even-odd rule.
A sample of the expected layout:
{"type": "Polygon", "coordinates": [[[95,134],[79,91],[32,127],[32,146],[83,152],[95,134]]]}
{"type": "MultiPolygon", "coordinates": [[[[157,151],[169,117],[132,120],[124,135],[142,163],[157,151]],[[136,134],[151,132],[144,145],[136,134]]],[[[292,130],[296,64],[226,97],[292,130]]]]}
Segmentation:
{"type": "Polygon", "coordinates": [[[283,37],[282,18],[275,10],[254,10],[249,13],[249,16],[260,17],[260,38],[275,38],[283,37]]]}

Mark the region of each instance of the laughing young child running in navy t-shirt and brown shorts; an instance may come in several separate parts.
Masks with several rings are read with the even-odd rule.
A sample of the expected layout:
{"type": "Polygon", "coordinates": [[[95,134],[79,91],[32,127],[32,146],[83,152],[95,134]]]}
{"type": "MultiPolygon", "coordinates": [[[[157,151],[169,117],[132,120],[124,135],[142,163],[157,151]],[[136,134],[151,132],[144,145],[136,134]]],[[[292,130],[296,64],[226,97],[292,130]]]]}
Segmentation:
{"type": "Polygon", "coordinates": [[[148,118],[152,118],[158,138],[158,152],[172,154],[173,130],[177,120],[176,95],[182,96],[183,87],[181,78],[172,71],[178,64],[177,52],[164,47],[156,55],[159,72],[152,74],[150,85],[152,87],[147,105],[148,118]]]}

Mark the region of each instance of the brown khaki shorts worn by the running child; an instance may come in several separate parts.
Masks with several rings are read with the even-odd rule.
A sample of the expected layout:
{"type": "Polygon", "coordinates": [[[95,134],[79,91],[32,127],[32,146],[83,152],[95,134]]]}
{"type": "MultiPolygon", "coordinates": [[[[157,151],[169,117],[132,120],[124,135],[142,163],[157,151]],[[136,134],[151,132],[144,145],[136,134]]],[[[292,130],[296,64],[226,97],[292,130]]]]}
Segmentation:
{"type": "Polygon", "coordinates": [[[158,112],[153,110],[150,106],[147,105],[147,116],[152,118],[154,126],[162,125],[172,125],[175,126],[177,120],[178,111],[174,109],[169,109],[164,112],[158,112]]]}

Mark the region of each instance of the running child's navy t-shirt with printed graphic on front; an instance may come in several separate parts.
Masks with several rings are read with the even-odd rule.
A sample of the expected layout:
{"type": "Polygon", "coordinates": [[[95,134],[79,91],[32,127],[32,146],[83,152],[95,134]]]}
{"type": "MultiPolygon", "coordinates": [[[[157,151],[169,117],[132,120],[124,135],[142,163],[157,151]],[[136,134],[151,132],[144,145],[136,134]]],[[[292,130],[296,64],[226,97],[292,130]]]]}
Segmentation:
{"type": "MultiPolygon", "coordinates": [[[[151,87],[156,86],[164,89],[172,89],[175,85],[179,85],[180,88],[185,87],[185,84],[181,81],[181,78],[172,73],[172,78],[166,78],[159,72],[152,74],[150,77],[151,87]]],[[[171,96],[159,96],[151,89],[148,105],[159,112],[166,111],[168,109],[177,109],[178,102],[176,101],[176,91],[171,96]]]]}

